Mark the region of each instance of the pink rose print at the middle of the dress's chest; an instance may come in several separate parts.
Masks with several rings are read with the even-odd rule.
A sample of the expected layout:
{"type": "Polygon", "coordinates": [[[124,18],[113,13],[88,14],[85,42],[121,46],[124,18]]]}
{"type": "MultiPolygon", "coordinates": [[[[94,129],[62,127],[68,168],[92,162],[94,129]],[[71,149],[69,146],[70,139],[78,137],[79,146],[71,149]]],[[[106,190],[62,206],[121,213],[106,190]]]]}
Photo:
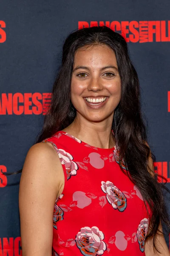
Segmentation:
{"type": "Polygon", "coordinates": [[[111,181],[102,181],[102,191],[105,192],[108,202],[114,209],[123,212],[127,207],[127,199],[125,195],[111,181]]]}

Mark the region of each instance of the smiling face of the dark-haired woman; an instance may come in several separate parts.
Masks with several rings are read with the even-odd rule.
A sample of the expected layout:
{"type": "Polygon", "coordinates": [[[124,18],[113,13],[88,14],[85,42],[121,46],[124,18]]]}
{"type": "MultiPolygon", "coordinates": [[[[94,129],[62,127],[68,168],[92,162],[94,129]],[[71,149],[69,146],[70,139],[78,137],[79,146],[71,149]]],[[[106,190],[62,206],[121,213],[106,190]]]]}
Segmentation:
{"type": "Polygon", "coordinates": [[[113,117],[121,98],[116,55],[106,45],[79,49],[74,58],[71,102],[91,122],[113,117]]]}

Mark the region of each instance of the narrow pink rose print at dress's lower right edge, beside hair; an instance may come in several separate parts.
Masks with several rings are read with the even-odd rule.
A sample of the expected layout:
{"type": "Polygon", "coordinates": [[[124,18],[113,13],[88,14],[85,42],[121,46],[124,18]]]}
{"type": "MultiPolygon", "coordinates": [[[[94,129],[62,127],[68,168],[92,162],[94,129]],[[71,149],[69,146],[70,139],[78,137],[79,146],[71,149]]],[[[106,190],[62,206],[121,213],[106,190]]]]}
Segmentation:
{"type": "Polygon", "coordinates": [[[144,240],[145,240],[146,235],[147,235],[148,226],[149,226],[149,219],[144,218],[140,222],[140,224],[138,226],[138,229],[137,229],[136,236],[138,238],[139,247],[140,247],[140,250],[142,252],[144,252],[144,240]]]}

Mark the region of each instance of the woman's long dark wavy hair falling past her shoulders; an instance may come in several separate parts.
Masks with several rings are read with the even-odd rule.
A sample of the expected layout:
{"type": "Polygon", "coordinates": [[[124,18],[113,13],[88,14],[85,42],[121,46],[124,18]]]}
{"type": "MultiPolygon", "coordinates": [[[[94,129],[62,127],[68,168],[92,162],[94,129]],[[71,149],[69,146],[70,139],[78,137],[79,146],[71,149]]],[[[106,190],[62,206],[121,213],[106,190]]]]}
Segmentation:
{"type": "MultiPolygon", "coordinates": [[[[153,236],[153,246],[156,248],[155,239],[160,221],[167,226],[168,232],[170,228],[163,189],[170,191],[163,183],[157,181],[156,174],[150,174],[153,169],[148,165],[149,156],[153,163],[155,156],[146,145],[147,132],[140,105],[139,79],[130,60],[127,43],[122,35],[106,26],[79,29],[68,35],[63,45],[62,65],[52,89],[51,106],[45,116],[44,125],[36,143],[52,137],[54,133],[66,128],[74,121],[76,109],[71,103],[70,96],[74,55],[81,47],[94,44],[107,45],[116,54],[122,95],[119,105],[114,111],[112,129],[115,134],[116,147],[119,148],[119,165],[122,169],[122,161],[125,161],[127,170],[122,169],[122,171],[127,173],[141,192],[145,206],[152,209],[151,230],[146,239],[153,236]]],[[[19,172],[21,170],[15,173],[19,172]]]]}

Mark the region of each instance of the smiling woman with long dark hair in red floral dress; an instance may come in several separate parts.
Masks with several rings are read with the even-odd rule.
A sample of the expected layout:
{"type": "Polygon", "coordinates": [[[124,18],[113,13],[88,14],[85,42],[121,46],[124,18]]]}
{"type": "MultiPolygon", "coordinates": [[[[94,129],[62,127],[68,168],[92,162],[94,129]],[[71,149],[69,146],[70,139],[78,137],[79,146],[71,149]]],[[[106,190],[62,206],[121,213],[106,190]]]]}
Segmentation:
{"type": "Polygon", "coordinates": [[[21,175],[23,256],[170,255],[153,161],[125,39],[106,26],[71,33],[21,175]]]}

